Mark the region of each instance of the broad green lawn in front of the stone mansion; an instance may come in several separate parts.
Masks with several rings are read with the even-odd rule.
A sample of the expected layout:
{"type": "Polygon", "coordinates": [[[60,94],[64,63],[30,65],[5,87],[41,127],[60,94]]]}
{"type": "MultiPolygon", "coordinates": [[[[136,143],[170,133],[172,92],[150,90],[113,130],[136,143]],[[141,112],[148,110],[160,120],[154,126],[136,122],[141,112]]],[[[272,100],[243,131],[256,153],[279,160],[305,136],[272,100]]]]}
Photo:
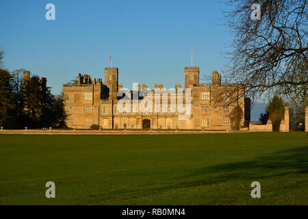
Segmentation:
{"type": "Polygon", "coordinates": [[[308,133],[0,135],[0,205],[308,205],[307,190],[308,133]]]}

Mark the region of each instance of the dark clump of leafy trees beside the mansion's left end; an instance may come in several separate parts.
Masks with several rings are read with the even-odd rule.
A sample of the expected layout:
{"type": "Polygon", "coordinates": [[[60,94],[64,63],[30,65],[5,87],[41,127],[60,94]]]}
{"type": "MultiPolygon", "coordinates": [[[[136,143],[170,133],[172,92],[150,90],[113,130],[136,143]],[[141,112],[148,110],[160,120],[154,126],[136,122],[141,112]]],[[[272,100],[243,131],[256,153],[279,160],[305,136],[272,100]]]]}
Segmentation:
{"type": "MultiPolygon", "coordinates": [[[[0,51],[0,62],[3,52],[0,51]]],[[[23,69],[0,68],[0,126],[5,129],[23,127],[65,127],[63,97],[55,98],[40,77],[23,79],[23,69]]]]}

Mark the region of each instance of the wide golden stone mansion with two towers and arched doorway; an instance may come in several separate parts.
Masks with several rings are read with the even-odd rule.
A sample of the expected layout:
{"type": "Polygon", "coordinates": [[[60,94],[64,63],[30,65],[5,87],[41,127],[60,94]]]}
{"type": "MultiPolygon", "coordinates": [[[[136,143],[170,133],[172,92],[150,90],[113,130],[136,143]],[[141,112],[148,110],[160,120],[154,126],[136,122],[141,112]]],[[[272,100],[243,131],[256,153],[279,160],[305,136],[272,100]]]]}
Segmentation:
{"type": "Polygon", "coordinates": [[[240,126],[244,125],[245,120],[250,120],[250,101],[245,98],[244,89],[236,95],[231,94],[231,97],[224,96],[218,101],[220,105],[216,105],[215,93],[223,93],[234,85],[222,84],[220,73],[216,71],[212,73],[211,83],[199,83],[199,73],[198,67],[185,67],[185,88],[176,84],[171,93],[177,95],[173,96],[163,84],[155,84],[153,90],[149,90],[146,84],[135,84],[133,90],[124,89],[122,84],[118,84],[118,68],[105,68],[104,82],[79,73],[75,83],[63,85],[64,105],[68,114],[66,125],[77,129],[90,129],[95,125],[101,129],[229,130],[232,128],[230,114],[235,106],[243,112],[240,114],[240,126]],[[161,98],[164,95],[166,98],[161,98]],[[145,101],[149,96],[153,99],[151,105],[145,101]],[[155,99],[157,96],[160,97],[159,101],[155,99]],[[235,99],[234,103],[224,104],[229,98],[235,99]],[[174,110],[179,105],[179,99],[185,112],[174,110]],[[188,102],[190,112],[181,118],[181,115],[187,114],[188,102]],[[173,103],[175,108],[172,107],[173,103]],[[142,104],[148,110],[141,110],[142,104]],[[118,110],[123,107],[126,110],[118,110]]]}

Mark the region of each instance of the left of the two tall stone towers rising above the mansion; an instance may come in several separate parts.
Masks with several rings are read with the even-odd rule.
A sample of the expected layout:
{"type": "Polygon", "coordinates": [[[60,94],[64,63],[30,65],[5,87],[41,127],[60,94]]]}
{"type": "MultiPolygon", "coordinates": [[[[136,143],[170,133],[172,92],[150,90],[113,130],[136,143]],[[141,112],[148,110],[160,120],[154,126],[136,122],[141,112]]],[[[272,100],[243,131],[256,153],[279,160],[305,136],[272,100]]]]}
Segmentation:
{"type": "Polygon", "coordinates": [[[105,85],[109,89],[110,99],[116,99],[118,92],[118,68],[105,68],[105,85]]]}

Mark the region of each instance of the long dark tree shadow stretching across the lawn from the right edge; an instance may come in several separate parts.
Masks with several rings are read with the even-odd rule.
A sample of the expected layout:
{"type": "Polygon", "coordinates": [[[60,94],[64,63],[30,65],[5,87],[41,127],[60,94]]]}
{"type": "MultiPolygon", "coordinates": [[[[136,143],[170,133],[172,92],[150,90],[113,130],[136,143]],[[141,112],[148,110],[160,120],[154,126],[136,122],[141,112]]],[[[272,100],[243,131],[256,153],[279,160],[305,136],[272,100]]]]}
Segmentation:
{"type": "MultiPolygon", "coordinates": [[[[151,189],[143,188],[140,190],[140,188],[133,188],[131,190],[117,190],[109,193],[109,196],[111,199],[121,196],[122,201],[129,201],[133,198],[140,198],[141,196],[147,196],[149,194],[153,195],[156,192],[166,192],[167,190],[179,190],[181,188],[214,185],[216,183],[238,183],[236,181],[242,181],[244,184],[244,181],[253,182],[291,174],[305,175],[307,172],[308,146],[303,146],[269,153],[268,155],[257,157],[247,162],[226,162],[225,164],[199,168],[190,175],[177,177],[172,180],[173,182],[168,181],[165,182],[164,185],[162,185],[162,183],[153,183],[151,189]]],[[[246,186],[248,186],[246,188],[250,190],[250,185],[246,186]]]]}

